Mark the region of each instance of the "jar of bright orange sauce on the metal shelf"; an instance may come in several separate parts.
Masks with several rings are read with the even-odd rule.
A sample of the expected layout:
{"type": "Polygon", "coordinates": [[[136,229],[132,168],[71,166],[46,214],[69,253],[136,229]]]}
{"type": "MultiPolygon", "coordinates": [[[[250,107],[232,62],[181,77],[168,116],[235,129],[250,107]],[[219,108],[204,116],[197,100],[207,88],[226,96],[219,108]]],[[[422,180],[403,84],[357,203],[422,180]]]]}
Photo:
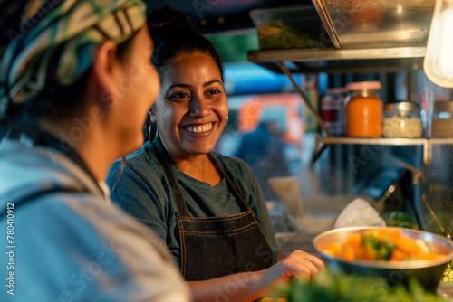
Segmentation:
{"type": "Polygon", "coordinates": [[[345,99],[346,137],[382,136],[381,82],[361,81],[347,85],[345,99]]]}

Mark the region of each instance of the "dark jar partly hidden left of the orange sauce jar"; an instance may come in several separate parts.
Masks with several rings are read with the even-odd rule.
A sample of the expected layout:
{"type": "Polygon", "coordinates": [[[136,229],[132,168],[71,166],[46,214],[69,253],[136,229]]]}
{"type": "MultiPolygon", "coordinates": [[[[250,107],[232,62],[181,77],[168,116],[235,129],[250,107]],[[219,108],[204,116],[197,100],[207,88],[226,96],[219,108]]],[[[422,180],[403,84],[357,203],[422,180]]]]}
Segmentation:
{"type": "Polygon", "coordinates": [[[342,102],[346,99],[345,88],[331,88],[326,91],[321,99],[321,118],[325,127],[333,136],[342,136],[342,102]]]}

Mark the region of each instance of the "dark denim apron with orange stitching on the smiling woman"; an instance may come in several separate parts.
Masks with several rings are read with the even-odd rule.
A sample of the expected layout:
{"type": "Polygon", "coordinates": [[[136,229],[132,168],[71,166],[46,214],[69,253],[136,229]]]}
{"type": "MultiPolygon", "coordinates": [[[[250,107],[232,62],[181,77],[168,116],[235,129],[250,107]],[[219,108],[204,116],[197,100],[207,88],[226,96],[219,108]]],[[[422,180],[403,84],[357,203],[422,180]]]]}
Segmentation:
{"type": "Polygon", "coordinates": [[[238,185],[218,165],[216,159],[208,154],[235,193],[242,212],[221,217],[193,218],[188,214],[171,160],[159,138],[153,146],[169,183],[170,197],[178,211],[180,267],[183,277],[187,281],[199,281],[270,267],[273,252],[255,213],[246,204],[238,185]]]}

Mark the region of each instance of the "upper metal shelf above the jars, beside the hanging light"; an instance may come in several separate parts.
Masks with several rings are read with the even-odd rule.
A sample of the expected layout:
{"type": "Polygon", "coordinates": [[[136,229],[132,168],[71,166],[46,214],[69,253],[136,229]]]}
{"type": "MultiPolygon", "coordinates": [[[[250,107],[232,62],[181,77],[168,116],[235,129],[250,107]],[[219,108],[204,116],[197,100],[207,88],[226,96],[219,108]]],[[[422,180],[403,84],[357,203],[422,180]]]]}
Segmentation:
{"type": "Polygon", "coordinates": [[[385,47],[372,49],[285,49],[250,51],[248,61],[275,73],[282,73],[277,61],[298,73],[352,73],[371,71],[416,71],[423,67],[426,47],[385,47]]]}

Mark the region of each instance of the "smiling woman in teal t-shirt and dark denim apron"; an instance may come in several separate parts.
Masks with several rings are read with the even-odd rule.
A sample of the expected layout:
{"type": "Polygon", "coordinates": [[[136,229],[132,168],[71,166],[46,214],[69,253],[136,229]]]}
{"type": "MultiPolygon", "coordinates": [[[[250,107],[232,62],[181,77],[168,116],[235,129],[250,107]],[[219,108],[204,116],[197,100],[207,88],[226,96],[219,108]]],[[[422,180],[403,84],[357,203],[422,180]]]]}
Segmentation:
{"type": "Polygon", "coordinates": [[[169,7],[149,21],[161,91],[149,140],[111,166],[112,199],[159,234],[196,301],[252,301],[275,282],[315,275],[323,262],[301,250],[275,264],[275,232],[252,170],[212,151],[228,120],[214,46],[169,7]]]}

